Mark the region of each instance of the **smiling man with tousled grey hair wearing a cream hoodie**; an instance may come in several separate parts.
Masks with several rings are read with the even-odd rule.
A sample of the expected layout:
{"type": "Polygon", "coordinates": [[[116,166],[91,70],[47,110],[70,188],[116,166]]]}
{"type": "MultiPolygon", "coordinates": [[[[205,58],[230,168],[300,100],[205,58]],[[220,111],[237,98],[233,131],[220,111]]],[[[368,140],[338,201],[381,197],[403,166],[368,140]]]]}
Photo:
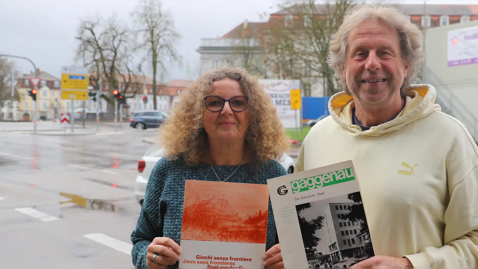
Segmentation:
{"type": "Polygon", "coordinates": [[[330,41],[344,91],[310,130],[295,169],[353,160],[377,255],[354,267],[478,267],[478,147],[440,112],[433,86],[410,85],[421,39],[401,12],[366,4],[330,41]]]}

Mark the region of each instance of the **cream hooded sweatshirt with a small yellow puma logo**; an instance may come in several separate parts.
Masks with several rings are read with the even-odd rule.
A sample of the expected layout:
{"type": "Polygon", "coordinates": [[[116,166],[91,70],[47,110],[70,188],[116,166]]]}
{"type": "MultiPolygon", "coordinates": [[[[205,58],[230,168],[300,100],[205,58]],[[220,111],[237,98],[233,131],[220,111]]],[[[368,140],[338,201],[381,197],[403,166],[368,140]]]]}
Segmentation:
{"type": "Polygon", "coordinates": [[[402,112],[367,131],[345,92],[304,140],[296,171],[352,160],[376,255],[415,268],[478,268],[478,147],[440,112],[435,89],[412,85],[402,112]]]}

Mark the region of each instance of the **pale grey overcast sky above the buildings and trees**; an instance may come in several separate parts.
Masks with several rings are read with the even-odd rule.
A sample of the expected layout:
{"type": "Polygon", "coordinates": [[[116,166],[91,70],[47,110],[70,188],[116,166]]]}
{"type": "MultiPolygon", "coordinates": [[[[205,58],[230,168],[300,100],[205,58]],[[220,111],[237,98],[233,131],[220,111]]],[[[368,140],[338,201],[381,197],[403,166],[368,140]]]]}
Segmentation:
{"type": "MultiPolygon", "coordinates": [[[[417,0],[399,0],[402,3],[423,3],[417,0]]],[[[60,68],[74,65],[75,36],[80,19],[95,13],[117,18],[131,24],[130,11],[136,0],[0,0],[0,54],[25,56],[38,68],[59,77],[60,68]]],[[[163,0],[163,6],[172,12],[175,26],[182,39],[177,51],[183,57],[183,66],[169,66],[166,81],[185,79],[185,64],[189,61],[192,78],[199,67],[201,38],[215,38],[228,33],[245,19],[260,21],[263,12],[277,11],[281,0],[163,0]],[[272,7],[272,9],[271,9],[272,7]]],[[[430,4],[447,4],[452,0],[427,0],[430,4]]],[[[473,3],[460,0],[454,3],[473,3]]],[[[26,60],[15,60],[22,73],[33,70],[26,60]]],[[[78,66],[81,63],[76,63],[78,66]]],[[[145,70],[146,71],[146,70],[145,70]]],[[[158,76],[159,78],[159,76],[158,76]]]]}

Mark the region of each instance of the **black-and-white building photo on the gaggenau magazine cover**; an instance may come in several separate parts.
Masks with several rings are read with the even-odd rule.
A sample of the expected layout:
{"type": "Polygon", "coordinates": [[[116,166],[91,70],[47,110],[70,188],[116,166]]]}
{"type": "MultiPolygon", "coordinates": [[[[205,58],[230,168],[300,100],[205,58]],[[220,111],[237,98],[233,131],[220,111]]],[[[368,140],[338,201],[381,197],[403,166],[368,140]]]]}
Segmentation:
{"type": "Polygon", "coordinates": [[[374,256],[360,192],[295,209],[309,268],[347,268],[374,256]]]}

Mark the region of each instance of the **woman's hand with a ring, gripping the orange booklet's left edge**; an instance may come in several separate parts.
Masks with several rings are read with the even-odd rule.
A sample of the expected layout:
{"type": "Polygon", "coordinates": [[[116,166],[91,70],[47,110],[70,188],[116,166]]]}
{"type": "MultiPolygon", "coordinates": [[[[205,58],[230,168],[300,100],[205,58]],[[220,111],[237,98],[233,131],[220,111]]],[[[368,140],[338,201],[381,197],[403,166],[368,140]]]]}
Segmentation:
{"type": "Polygon", "coordinates": [[[176,261],[179,261],[179,254],[181,254],[181,247],[173,239],[156,237],[148,246],[146,265],[152,269],[167,268],[168,265],[174,265],[176,261]]]}

